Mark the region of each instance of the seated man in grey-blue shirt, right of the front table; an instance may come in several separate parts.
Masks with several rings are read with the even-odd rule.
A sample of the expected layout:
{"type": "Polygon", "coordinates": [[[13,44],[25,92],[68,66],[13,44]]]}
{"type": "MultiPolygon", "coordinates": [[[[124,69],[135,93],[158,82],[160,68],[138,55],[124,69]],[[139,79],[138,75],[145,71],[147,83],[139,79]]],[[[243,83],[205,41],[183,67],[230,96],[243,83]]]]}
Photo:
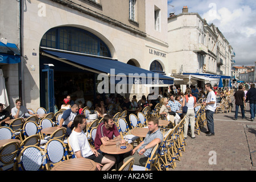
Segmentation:
{"type": "Polygon", "coordinates": [[[156,144],[163,141],[163,133],[158,127],[158,118],[152,116],[147,119],[147,122],[149,131],[145,139],[133,149],[133,151],[131,152],[131,156],[125,158],[124,162],[126,162],[130,158],[134,158],[135,165],[145,166],[152,149],[156,146],[156,144]]]}

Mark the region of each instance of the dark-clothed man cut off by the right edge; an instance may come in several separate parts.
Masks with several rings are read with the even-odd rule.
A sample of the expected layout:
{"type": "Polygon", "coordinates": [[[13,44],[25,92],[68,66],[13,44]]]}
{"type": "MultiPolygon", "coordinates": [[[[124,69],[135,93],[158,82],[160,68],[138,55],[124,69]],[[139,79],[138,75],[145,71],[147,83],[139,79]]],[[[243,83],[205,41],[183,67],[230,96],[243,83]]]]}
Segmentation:
{"type": "Polygon", "coordinates": [[[255,84],[251,84],[251,88],[248,90],[246,94],[246,102],[249,100],[250,103],[250,114],[251,121],[254,120],[256,114],[256,89],[255,84]]]}

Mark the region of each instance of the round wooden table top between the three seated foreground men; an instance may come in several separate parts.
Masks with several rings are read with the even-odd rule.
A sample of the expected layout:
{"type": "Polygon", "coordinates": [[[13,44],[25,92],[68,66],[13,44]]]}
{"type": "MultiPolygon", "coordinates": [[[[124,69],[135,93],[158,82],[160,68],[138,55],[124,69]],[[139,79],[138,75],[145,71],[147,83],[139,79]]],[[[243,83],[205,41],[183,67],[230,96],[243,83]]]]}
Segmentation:
{"type": "Polygon", "coordinates": [[[100,146],[100,150],[106,154],[125,154],[126,152],[133,150],[133,146],[130,143],[128,144],[128,146],[126,146],[125,149],[120,148],[121,146],[126,146],[126,145],[120,144],[119,147],[117,147],[115,144],[111,146],[104,146],[102,144],[100,146]]]}

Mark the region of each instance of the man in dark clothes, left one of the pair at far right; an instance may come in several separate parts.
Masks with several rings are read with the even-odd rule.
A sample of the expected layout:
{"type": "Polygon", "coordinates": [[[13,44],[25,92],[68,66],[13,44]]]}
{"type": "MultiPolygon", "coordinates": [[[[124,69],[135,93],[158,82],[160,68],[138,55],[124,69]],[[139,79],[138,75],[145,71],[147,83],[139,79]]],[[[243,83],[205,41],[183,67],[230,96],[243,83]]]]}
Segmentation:
{"type": "Polygon", "coordinates": [[[245,103],[245,92],[243,92],[243,86],[239,85],[237,92],[234,93],[234,98],[236,100],[236,113],[235,113],[235,118],[234,120],[237,120],[237,115],[238,115],[238,109],[239,106],[241,108],[241,113],[242,113],[242,119],[245,119],[245,109],[244,109],[244,103],[245,103]]]}

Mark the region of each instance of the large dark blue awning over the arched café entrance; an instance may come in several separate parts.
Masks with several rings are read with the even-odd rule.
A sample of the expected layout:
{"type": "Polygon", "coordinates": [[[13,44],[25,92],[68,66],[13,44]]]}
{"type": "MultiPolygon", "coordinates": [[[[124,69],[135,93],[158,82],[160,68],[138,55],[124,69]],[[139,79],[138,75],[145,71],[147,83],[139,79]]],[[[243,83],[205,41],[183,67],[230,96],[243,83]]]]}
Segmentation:
{"type": "Polygon", "coordinates": [[[115,84],[123,81],[123,79],[126,79],[127,84],[174,84],[174,78],[172,77],[134,67],[133,65],[122,63],[121,61],[117,60],[48,50],[43,50],[43,52],[46,56],[50,55],[57,57],[60,61],[68,61],[71,64],[88,68],[89,71],[106,73],[110,76],[110,82],[112,82],[111,78],[114,76],[115,84]]]}

